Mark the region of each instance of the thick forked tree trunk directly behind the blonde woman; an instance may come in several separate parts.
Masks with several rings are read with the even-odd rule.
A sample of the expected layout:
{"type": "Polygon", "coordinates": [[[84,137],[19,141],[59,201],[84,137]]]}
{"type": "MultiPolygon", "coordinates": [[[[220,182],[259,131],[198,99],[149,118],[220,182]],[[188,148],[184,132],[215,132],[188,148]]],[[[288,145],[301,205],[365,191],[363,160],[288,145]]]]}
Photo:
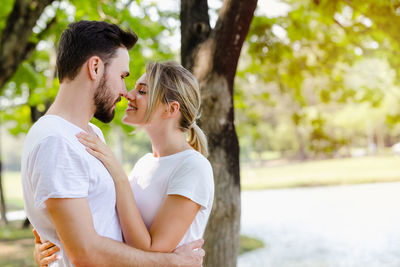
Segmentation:
{"type": "Polygon", "coordinates": [[[181,1],[181,60],[202,93],[200,125],[208,136],[214,207],[204,235],[205,266],[236,266],[240,230],[239,144],[233,82],[257,0],[225,0],[214,29],[207,1],[181,1]]]}

